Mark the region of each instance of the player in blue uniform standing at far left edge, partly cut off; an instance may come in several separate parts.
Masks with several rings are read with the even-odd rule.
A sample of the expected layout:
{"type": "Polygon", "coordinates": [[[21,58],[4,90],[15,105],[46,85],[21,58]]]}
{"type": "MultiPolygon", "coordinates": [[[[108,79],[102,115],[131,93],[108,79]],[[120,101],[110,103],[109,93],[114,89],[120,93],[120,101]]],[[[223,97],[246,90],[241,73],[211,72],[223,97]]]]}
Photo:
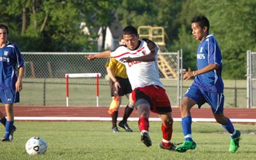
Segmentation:
{"type": "Polygon", "coordinates": [[[16,127],[14,123],[13,103],[19,102],[19,92],[22,90],[24,62],[18,46],[7,41],[8,26],[0,24],[0,102],[4,104],[7,119],[0,112],[0,122],[5,126],[5,135],[1,142],[10,142],[16,127]],[[19,68],[16,75],[16,64],[19,68]]]}

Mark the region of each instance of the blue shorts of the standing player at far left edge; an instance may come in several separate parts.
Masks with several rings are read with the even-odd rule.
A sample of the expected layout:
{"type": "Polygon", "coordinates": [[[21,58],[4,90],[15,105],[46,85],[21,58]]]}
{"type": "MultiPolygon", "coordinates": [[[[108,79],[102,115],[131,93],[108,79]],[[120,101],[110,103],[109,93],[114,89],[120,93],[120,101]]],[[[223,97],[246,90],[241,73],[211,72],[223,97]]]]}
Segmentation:
{"type": "Polygon", "coordinates": [[[12,104],[19,102],[19,93],[15,89],[1,90],[0,89],[0,102],[3,104],[12,104]]]}

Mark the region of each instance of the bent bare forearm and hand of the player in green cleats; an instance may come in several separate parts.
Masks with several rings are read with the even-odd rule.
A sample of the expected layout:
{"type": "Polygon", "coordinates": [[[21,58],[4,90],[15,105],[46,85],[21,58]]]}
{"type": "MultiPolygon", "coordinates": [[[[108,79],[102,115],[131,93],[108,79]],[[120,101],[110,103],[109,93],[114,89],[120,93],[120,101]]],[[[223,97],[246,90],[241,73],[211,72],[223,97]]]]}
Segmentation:
{"type": "MultiPolygon", "coordinates": [[[[194,71],[194,73],[195,73],[195,76],[197,76],[197,75],[201,75],[201,74],[210,72],[210,71],[218,69],[218,68],[219,68],[219,66],[217,64],[211,63],[211,64],[209,64],[208,66],[206,66],[204,68],[201,68],[199,70],[194,71]]],[[[183,74],[183,79],[185,81],[187,81],[188,79],[194,77],[193,71],[192,72],[182,72],[182,74],[183,74]]]]}

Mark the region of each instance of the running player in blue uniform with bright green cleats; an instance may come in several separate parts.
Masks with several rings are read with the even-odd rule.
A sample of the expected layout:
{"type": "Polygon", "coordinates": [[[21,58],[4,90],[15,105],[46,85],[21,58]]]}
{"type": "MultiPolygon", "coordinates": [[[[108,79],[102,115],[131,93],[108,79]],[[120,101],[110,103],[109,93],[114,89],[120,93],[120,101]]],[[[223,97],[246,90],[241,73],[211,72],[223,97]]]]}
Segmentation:
{"type": "Polygon", "coordinates": [[[192,18],[191,22],[192,34],[196,40],[200,41],[197,50],[197,70],[183,72],[185,81],[192,77],[195,79],[180,105],[185,141],[176,148],[176,151],[186,152],[196,148],[196,143],[192,140],[190,109],[195,104],[200,108],[207,102],[216,121],[231,135],[229,152],[236,152],[239,147],[240,131],[235,130],[229,118],[223,114],[224,84],[221,78],[222,58],[219,45],[213,34],[209,34],[210,24],[206,17],[196,16],[192,18]]]}

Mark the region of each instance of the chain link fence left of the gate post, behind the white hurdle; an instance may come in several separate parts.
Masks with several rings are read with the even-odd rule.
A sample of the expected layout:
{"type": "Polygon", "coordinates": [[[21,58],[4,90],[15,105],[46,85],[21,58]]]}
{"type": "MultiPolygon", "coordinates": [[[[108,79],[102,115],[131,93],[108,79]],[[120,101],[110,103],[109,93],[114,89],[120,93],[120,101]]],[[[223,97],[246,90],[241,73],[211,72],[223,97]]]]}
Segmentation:
{"type": "MultiPolygon", "coordinates": [[[[111,102],[107,59],[87,60],[95,53],[22,52],[26,64],[23,90],[19,106],[66,106],[65,74],[101,73],[99,78],[99,106],[111,102]]],[[[172,106],[178,105],[178,52],[159,53],[160,78],[165,85],[172,106]]],[[[122,104],[128,100],[123,97],[122,104]]],[[[96,78],[69,79],[69,106],[96,106],[96,78]]]]}

